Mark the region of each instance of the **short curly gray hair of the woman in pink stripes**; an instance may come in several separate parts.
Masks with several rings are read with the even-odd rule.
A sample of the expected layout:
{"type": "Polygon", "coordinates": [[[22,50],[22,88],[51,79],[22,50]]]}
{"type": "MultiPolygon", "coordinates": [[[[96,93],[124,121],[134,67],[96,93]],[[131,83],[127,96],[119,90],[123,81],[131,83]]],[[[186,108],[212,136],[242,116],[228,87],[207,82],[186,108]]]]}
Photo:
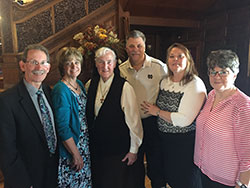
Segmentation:
{"type": "Polygon", "coordinates": [[[239,57],[232,50],[211,51],[207,57],[208,70],[220,67],[222,69],[230,68],[234,74],[239,73],[239,57]]]}

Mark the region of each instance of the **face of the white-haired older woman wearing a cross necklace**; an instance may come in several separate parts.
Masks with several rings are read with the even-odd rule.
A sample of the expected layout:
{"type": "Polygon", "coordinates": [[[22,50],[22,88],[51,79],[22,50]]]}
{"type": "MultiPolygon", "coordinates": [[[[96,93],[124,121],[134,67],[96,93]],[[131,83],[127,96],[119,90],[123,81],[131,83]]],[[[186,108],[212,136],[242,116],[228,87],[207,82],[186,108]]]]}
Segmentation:
{"type": "Polygon", "coordinates": [[[114,73],[116,61],[112,53],[108,52],[105,55],[97,58],[95,65],[102,80],[106,82],[114,73]]]}

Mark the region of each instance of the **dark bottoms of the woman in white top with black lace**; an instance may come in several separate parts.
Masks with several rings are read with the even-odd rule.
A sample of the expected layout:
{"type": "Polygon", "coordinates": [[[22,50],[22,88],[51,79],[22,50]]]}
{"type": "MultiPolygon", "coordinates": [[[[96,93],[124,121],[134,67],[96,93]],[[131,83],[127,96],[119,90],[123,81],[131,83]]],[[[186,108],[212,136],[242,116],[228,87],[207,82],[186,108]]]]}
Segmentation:
{"type": "Polygon", "coordinates": [[[200,172],[193,163],[195,131],[160,132],[160,137],[167,183],[172,188],[201,188],[200,172]]]}

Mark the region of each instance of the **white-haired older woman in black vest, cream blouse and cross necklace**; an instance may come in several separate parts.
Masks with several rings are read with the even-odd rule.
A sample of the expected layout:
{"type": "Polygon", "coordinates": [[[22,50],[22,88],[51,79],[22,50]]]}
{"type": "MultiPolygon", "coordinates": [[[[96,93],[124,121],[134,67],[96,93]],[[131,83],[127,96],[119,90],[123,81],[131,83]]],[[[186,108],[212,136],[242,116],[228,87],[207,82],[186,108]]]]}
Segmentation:
{"type": "Polygon", "coordinates": [[[134,90],[114,71],[110,48],[96,51],[95,68],[87,101],[93,186],[138,188],[134,163],[143,132],[134,90]]]}

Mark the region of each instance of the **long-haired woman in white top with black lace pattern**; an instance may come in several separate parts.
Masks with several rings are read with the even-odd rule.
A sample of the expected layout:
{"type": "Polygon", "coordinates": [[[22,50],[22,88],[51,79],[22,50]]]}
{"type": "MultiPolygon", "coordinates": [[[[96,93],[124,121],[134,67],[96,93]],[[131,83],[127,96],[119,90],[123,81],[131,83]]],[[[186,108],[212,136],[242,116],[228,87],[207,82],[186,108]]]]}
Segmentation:
{"type": "Polygon", "coordinates": [[[169,73],[160,83],[156,104],[144,102],[145,113],[158,116],[166,181],[174,188],[198,188],[193,163],[195,119],[206,98],[189,50],[174,43],[167,50],[169,73]]]}

